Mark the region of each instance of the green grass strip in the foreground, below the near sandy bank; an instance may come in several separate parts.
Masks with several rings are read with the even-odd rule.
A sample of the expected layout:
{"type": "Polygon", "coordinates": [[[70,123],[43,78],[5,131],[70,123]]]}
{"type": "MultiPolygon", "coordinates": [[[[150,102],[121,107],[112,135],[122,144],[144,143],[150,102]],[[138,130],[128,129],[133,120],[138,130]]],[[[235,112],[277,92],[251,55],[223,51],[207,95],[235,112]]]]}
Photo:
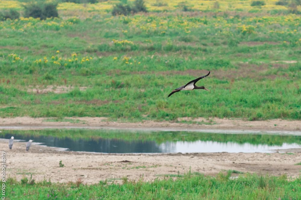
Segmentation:
{"type": "MultiPolygon", "coordinates": [[[[231,173],[216,177],[187,173],[176,179],[165,177],[151,182],[122,180],[123,184],[84,185],[77,183],[24,182],[8,179],[6,194],[13,199],[298,199],[301,179],[286,176],[244,174],[230,179],[231,173]]],[[[109,181],[111,182],[111,181],[109,181]]]]}

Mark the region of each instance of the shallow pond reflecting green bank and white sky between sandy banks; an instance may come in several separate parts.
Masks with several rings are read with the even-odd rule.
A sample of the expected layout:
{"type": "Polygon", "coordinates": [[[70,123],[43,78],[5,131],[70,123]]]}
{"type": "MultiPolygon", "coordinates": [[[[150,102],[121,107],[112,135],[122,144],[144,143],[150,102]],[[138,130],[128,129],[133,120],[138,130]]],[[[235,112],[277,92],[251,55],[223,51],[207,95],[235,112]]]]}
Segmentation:
{"type": "Polygon", "coordinates": [[[102,153],[193,153],[193,152],[274,152],[275,149],[301,148],[300,136],[265,136],[253,134],[217,134],[194,132],[93,133],[89,130],[4,131],[2,138],[41,142],[70,151],[102,153]],[[33,134],[34,133],[34,134],[33,134]],[[65,134],[65,135],[64,135],[65,134]],[[77,134],[77,135],[76,135],[77,134]],[[57,136],[61,137],[57,137],[57,136]],[[62,135],[64,135],[62,137],[62,135]],[[76,135],[76,137],[74,136],[76,135]],[[86,138],[85,138],[86,137],[86,138]],[[123,138],[123,139],[121,139],[123,138]],[[168,139],[167,139],[168,138],[168,139]],[[181,140],[179,140],[179,138],[181,140]]]}

